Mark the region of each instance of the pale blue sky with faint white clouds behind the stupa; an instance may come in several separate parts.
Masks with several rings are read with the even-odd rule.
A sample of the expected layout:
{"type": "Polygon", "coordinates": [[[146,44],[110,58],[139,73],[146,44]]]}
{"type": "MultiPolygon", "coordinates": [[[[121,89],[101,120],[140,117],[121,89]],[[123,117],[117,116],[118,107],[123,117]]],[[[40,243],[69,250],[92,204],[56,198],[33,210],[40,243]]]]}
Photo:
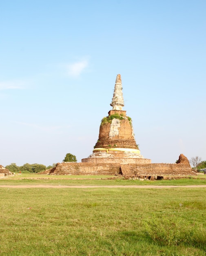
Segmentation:
{"type": "Polygon", "coordinates": [[[93,150],[117,74],[141,154],[206,160],[205,0],[0,3],[0,164],[93,150]]]}

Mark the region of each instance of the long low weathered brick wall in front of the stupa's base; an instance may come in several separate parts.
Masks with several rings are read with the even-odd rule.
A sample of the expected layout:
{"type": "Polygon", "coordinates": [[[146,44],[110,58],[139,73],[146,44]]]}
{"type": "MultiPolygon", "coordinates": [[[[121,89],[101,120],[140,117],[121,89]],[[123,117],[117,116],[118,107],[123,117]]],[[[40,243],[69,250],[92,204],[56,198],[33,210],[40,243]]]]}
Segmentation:
{"type": "Polygon", "coordinates": [[[58,163],[53,168],[53,175],[115,175],[125,176],[164,176],[164,175],[194,175],[190,166],[185,164],[96,164],[96,163],[58,163]]]}

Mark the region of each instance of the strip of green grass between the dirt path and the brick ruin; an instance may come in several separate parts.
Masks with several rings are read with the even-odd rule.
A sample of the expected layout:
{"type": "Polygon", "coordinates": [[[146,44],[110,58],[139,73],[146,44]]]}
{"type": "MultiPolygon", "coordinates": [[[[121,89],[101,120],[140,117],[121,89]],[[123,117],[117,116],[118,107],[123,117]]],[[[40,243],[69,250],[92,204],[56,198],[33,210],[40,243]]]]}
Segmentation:
{"type": "Polygon", "coordinates": [[[197,175],[180,180],[154,180],[139,181],[125,180],[106,180],[114,176],[104,175],[42,175],[42,174],[22,174],[0,179],[0,185],[206,185],[206,175],[197,175]]]}

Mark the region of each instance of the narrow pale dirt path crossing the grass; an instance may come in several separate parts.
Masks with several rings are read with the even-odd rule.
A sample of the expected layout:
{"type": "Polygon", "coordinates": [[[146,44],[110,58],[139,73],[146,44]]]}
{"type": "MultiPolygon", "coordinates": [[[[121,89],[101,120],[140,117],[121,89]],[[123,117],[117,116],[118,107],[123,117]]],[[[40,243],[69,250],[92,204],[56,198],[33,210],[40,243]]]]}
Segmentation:
{"type": "Polygon", "coordinates": [[[97,185],[77,185],[77,186],[52,186],[52,185],[0,185],[0,188],[13,188],[13,189],[28,189],[28,188],[41,188],[41,189],[89,189],[89,188],[133,188],[133,189],[171,189],[171,188],[206,188],[206,185],[186,185],[186,186],[154,186],[154,185],[112,185],[112,186],[97,186],[97,185]]]}

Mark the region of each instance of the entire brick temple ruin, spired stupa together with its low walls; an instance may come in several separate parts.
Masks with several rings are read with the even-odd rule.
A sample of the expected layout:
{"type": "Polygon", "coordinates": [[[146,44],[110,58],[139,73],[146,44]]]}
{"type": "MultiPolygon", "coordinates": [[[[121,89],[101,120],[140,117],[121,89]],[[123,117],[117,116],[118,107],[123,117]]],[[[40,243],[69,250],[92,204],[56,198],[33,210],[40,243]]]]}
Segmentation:
{"type": "Polygon", "coordinates": [[[181,154],[175,164],[152,164],[140,154],[132,119],[126,115],[122,80],[117,75],[112,102],[113,109],[102,119],[99,138],[93,153],[81,163],[58,163],[50,175],[123,175],[125,177],[157,177],[194,175],[188,159],[181,154]]]}

